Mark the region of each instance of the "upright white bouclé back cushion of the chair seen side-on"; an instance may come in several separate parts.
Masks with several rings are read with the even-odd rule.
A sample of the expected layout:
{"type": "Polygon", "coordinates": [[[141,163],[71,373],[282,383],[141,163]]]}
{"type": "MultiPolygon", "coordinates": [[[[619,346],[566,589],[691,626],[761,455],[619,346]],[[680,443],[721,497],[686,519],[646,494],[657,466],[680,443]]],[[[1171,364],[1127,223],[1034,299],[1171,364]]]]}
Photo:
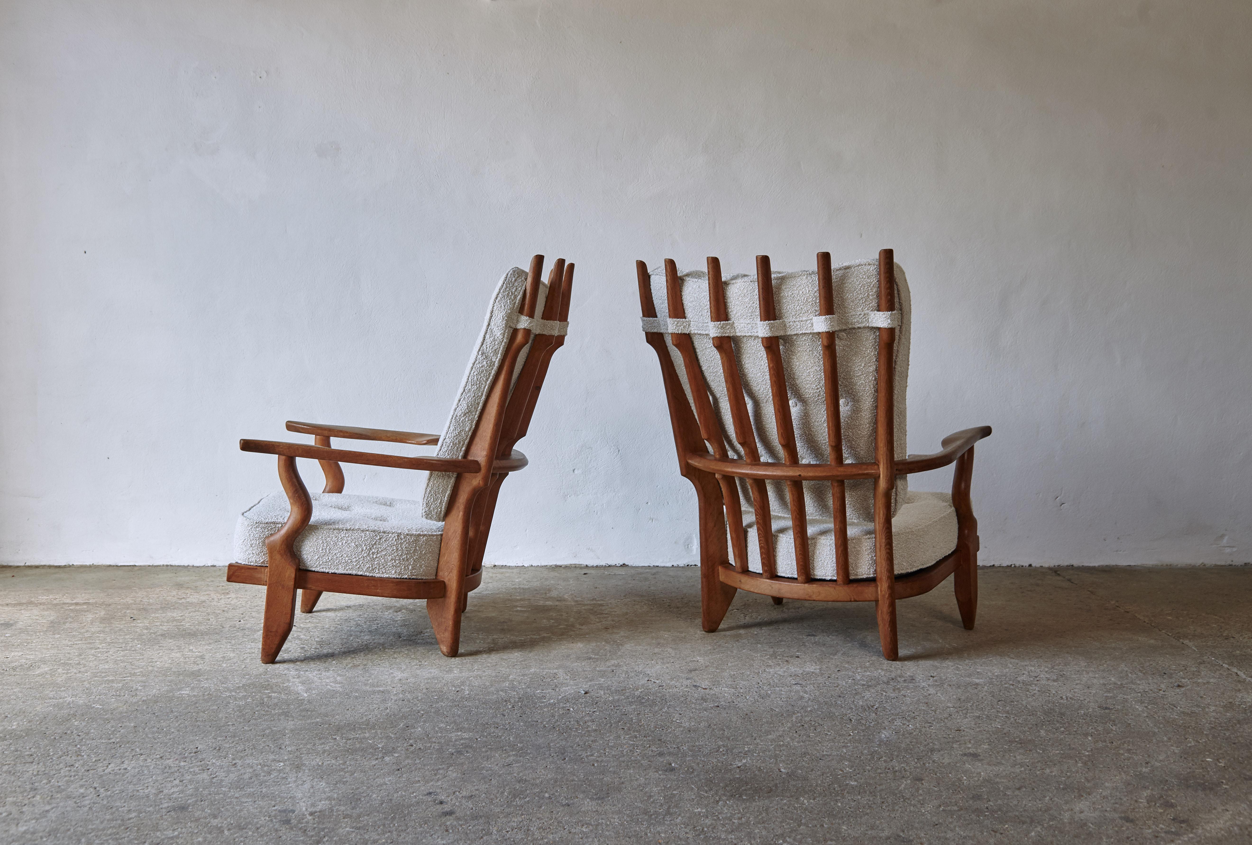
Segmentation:
{"type": "MultiPolygon", "coordinates": [[[[491,383],[496,378],[496,371],[505,358],[508,348],[508,338],[513,334],[511,323],[518,314],[522,305],[522,297],[526,294],[526,270],[513,268],[505,273],[505,277],[496,285],[492,294],[491,307],[487,309],[487,319],[478,333],[478,342],[475,344],[473,354],[470,357],[470,366],[461,379],[461,389],[452,403],[452,412],[448,414],[448,424],[443,427],[439,436],[441,458],[463,458],[466,447],[470,446],[470,437],[478,424],[482,407],[487,402],[487,393],[491,383]]],[[[540,283],[538,303],[535,305],[535,314],[543,313],[543,303],[547,300],[547,284],[540,283]]],[[[513,381],[517,381],[522,372],[522,364],[530,354],[535,334],[517,357],[513,367],[513,381]]],[[[457,477],[451,472],[432,472],[426,481],[426,493],[422,497],[422,517],[434,522],[443,522],[443,516],[448,511],[448,498],[452,496],[452,486],[457,477]]]]}

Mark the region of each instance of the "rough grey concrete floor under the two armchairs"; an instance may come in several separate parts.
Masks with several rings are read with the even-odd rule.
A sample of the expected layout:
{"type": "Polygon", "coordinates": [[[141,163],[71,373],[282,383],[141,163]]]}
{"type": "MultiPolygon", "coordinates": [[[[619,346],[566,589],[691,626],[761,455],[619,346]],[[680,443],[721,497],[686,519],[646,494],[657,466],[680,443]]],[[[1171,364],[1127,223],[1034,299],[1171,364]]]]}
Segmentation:
{"type": "Polygon", "coordinates": [[[220,568],[0,570],[0,841],[1252,841],[1252,567],[983,570],[900,606],[495,568],[461,657],[220,568]]]}

